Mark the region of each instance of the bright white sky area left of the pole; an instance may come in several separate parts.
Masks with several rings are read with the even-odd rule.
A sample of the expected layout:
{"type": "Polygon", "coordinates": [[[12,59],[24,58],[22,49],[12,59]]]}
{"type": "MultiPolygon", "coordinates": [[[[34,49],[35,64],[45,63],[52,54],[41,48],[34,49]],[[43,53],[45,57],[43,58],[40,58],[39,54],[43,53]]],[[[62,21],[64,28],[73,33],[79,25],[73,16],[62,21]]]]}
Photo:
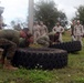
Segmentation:
{"type": "Polygon", "coordinates": [[[21,19],[25,20],[28,13],[28,0],[0,0],[1,7],[4,7],[2,13],[6,23],[10,23],[11,20],[21,19]]]}

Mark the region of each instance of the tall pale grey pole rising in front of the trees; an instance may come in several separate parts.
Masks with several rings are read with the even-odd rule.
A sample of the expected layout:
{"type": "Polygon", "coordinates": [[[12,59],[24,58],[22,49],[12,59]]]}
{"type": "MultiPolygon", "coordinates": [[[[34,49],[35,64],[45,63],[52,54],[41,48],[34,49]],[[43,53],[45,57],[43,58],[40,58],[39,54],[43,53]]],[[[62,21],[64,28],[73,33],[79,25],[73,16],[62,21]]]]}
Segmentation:
{"type": "Polygon", "coordinates": [[[31,33],[32,33],[32,28],[33,28],[33,10],[34,10],[33,4],[34,4],[33,0],[29,0],[29,24],[28,27],[31,33]]]}

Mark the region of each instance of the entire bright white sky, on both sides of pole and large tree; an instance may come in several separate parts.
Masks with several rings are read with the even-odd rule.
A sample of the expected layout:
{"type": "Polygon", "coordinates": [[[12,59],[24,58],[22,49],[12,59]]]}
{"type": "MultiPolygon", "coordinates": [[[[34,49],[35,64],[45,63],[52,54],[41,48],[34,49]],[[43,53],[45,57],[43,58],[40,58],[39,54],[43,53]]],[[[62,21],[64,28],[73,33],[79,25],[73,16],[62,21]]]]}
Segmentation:
{"type": "MultiPolygon", "coordinates": [[[[4,7],[2,13],[6,23],[11,20],[21,19],[25,20],[28,14],[29,0],[0,0],[0,6],[4,7]]],[[[40,0],[34,0],[36,3],[40,0]]],[[[50,0],[49,0],[50,1],[50,0]]],[[[69,20],[75,15],[75,11],[80,4],[84,4],[84,0],[54,0],[59,10],[66,13],[69,20]]]]}

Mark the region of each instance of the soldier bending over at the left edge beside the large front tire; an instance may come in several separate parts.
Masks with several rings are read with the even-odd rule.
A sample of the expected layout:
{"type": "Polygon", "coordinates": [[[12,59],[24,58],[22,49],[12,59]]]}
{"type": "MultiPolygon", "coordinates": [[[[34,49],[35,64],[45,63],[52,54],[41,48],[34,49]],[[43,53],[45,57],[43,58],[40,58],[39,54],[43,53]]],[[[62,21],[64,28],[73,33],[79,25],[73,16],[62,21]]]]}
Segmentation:
{"type": "Polygon", "coordinates": [[[17,70],[11,65],[11,60],[19,45],[19,39],[25,38],[23,31],[17,30],[0,30],[0,48],[4,50],[0,63],[3,64],[3,69],[17,70]]]}

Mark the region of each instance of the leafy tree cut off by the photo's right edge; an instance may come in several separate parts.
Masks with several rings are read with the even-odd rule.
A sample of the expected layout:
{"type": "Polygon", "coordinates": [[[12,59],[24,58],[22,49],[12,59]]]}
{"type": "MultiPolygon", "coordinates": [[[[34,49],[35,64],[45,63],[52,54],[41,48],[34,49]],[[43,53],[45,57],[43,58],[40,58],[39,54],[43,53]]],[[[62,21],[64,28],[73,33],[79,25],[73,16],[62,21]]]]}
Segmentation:
{"type": "Polygon", "coordinates": [[[80,6],[76,8],[76,17],[74,18],[75,20],[81,20],[81,22],[84,24],[84,6],[80,6]]]}

